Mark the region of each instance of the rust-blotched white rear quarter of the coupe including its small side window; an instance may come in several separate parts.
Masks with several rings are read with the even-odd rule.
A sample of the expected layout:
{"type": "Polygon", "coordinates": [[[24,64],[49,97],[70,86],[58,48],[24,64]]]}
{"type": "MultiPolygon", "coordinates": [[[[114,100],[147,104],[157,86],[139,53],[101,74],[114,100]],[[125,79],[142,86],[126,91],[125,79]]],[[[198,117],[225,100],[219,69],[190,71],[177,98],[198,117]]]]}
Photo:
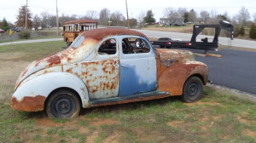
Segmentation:
{"type": "MultiPolygon", "coordinates": [[[[68,64],[64,71],[73,73],[85,83],[90,100],[117,97],[119,94],[119,49],[117,37],[106,37],[84,60],[68,64]]],[[[89,46],[86,48],[90,48],[89,46]]]]}

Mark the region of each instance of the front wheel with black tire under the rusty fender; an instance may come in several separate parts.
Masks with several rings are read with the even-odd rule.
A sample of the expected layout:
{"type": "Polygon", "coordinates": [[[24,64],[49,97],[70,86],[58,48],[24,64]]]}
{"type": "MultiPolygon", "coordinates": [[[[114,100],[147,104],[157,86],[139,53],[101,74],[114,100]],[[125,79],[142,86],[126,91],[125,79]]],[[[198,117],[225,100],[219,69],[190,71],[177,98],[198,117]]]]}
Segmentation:
{"type": "Polygon", "coordinates": [[[182,99],[184,102],[195,102],[202,97],[203,83],[199,77],[189,77],[183,86],[182,99]]]}

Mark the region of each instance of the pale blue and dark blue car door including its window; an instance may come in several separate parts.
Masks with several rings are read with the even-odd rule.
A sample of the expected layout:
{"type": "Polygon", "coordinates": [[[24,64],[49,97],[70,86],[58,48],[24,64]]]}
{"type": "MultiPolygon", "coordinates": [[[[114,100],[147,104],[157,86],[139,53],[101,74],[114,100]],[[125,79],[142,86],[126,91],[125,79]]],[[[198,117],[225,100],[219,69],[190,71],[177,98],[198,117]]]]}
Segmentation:
{"type": "Polygon", "coordinates": [[[156,90],[155,54],[146,38],[119,36],[119,62],[119,97],[156,90]]]}

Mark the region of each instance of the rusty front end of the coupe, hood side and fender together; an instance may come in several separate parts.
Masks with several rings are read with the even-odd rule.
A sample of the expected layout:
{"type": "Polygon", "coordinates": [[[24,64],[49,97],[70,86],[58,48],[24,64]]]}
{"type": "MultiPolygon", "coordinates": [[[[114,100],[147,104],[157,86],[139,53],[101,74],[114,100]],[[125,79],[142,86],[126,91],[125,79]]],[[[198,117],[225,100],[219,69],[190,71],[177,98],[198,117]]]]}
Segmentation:
{"type": "Polygon", "coordinates": [[[207,83],[207,66],[193,60],[193,54],[188,51],[156,49],[158,89],[181,95],[183,84],[194,74],[200,75],[202,82],[207,83]]]}

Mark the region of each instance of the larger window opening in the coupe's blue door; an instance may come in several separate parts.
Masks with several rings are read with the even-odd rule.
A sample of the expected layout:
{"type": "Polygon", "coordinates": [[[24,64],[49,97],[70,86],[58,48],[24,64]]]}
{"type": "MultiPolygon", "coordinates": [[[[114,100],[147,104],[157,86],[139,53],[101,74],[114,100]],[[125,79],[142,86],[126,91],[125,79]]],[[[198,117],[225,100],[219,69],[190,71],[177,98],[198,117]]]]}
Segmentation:
{"type": "Polygon", "coordinates": [[[148,43],[142,38],[124,38],[122,40],[122,49],[124,54],[149,53],[148,43]]]}

